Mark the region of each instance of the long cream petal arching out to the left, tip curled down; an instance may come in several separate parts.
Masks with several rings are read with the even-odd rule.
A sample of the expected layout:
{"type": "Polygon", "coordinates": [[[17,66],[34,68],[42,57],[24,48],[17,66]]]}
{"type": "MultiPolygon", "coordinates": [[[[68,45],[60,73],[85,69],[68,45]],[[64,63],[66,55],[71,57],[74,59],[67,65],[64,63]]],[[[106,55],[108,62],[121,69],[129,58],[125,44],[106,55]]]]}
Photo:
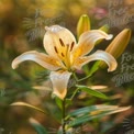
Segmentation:
{"type": "Polygon", "coordinates": [[[43,53],[38,53],[36,51],[31,51],[23,53],[22,55],[18,56],[13,62],[12,62],[12,68],[15,69],[19,64],[25,60],[33,60],[37,64],[40,64],[42,67],[48,69],[48,70],[57,70],[59,69],[58,62],[43,53]]]}

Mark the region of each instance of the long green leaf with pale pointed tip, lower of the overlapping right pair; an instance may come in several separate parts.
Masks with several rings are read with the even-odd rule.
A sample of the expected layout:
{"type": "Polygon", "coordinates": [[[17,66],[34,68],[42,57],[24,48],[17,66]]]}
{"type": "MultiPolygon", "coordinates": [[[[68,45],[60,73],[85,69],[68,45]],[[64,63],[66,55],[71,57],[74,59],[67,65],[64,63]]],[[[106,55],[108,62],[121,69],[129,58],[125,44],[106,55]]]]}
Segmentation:
{"type": "MultiPolygon", "coordinates": [[[[103,107],[107,108],[107,105],[102,105],[102,108],[103,107]]],[[[108,108],[109,108],[108,110],[102,109],[102,108],[100,110],[92,111],[92,112],[89,112],[85,115],[79,115],[79,116],[75,118],[72,121],[69,122],[68,127],[80,125],[80,124],[89,122],[93,119],[99,119],[99,118],[102,118],[102,116],[105,116],[105,115],[109,115],[109,114],[122,112],[122,111],[129,110],[131,107],[118,108],[118,107],[114,107],[114,105],[108,105],[108,108]]]]}

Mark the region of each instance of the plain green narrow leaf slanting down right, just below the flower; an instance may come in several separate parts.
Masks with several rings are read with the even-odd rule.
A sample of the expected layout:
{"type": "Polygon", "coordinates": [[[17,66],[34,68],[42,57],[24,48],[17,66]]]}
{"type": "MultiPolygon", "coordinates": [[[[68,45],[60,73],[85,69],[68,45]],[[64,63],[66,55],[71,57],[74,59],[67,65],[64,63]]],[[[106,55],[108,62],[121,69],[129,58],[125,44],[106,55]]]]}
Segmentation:
{"type": "Polygon", "coordinates": [[[77,88],[79,88],[80,90],[82,91],[86,91],[87,93],[91,94],[91,96],[94,96],[94,97],[98,97],[98,98],[101,98],[101,99],[108,99],[108,97],[97,90],[93,90],[93,89],[90,89],[86,86],[80,86],[80,85],[76,85],[77,88]]]}

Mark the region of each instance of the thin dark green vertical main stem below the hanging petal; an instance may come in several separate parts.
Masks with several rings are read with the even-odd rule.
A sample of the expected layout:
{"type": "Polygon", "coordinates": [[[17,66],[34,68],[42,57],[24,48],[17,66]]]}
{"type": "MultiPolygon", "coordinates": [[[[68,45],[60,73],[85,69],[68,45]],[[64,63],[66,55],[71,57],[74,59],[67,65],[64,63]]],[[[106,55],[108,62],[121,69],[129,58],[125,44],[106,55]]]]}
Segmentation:
{"type": "Polygon", "coordinates": [[[66,107],[65,107],[65,102],[66,100],[64,99],[63,100],[63,116],[62,116],[62,130],[63,130],[63,134],[66,134],[66,130],[65,130],[65,126],[66,126],[66,107]]]}

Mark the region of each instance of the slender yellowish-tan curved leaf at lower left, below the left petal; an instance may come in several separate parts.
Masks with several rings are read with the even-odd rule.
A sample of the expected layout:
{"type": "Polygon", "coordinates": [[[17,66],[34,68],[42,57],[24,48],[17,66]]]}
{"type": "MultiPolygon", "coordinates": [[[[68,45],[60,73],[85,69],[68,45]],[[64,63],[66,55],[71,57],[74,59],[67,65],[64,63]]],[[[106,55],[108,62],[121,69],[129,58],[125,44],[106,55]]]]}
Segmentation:
{"type": "Polygon", "coordinates": [[[36,108],[36,107],[34,107],[34,105],[32,105],[32,104],[29,104],[29,103],[25,103],[25,102],[14,102],[14,103],[11,103],[10,105],[27,107],[27,108],[32,108],[32,109],[34,109],[34,110],[37,110],[37,111],[40,111],[40,112],[42,112],[42,113],[45,113],[45,114],[46,114],[46,112],[45,112],[45,111],[43,111],[42,109],[36,108]]]}

